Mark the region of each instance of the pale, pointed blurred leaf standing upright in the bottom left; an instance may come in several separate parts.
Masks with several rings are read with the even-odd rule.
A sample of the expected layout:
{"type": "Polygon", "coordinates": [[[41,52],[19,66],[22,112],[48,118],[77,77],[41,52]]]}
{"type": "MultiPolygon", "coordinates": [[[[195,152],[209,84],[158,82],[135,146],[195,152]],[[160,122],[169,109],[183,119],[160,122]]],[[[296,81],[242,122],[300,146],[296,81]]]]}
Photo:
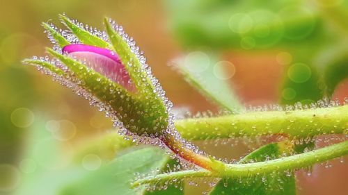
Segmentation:
{"type": "Polygon", "coordinates": [[[32,162],[34,169],[32,173],[23,173],[22,185],[15,192],[17,195],[54,195],[57,189],[87,173],[77,167],[60,167],[68,157],[61,151],[62,142],[53,139],[45,125],[45,120],[37,116],[26,136],[22,159],[32,162]]]}

